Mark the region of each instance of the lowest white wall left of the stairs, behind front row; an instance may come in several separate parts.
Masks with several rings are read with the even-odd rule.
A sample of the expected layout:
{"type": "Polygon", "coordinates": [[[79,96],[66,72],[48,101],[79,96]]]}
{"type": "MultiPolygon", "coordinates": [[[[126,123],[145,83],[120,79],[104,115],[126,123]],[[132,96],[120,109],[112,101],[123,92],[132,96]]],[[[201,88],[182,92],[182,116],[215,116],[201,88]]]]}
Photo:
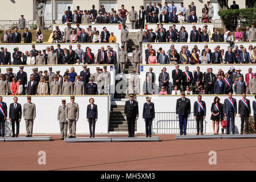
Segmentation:
{"type": "MultiPolygon", "coordinates": [[[[89,98],[94,98],[94,104],[98,107],[98,120],[96,122],[95,133],[96,134],[107,134],[109,126],[109,111],[110,111],[110,100],[109,96],[76,96],[75,102],[79,104],[79,120],[76,125],[77,134],[88,134],[89,133],[89,123],[86,120],[86,109],[89,104],[89,98]]],[[[61,100],[65,99],[66,103],[70,102],[70,97],[68,96],[32,96],[31,102],[36,105],[36,118],[34,121],[33,134],[59,134],[60,126],[57,122],[57,111],[59,106],[61,106],[61,100]]],[[[12,96],[3,96],[3,102],[6,102],[8,109],[10,104],[13,103],[12,96]]],[[[18,103],[22,105],[27,103],[27,97],[18,96],[18,103]]],[[[11,122],[7,121],[6,133],[11,132],[11,122]]],[[[20,134],[26,134],[26,123],[22,115],[22,120],[20,121],[20,134]]],[[[16,130],[16,129],[15,129],[16,130]]],[[[69,134],[69,131],[68,131],[69,134]]]]}

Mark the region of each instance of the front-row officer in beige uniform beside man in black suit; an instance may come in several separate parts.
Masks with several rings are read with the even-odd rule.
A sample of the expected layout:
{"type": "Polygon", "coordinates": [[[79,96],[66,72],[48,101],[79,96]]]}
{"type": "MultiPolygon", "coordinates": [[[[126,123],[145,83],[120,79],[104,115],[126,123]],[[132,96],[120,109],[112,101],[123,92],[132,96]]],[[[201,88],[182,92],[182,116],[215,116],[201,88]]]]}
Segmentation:
{"type": "Polygon", "coordinates": [[[33,124],[36,117],[35,104],[31,103],[31,96],[27,97],[27,103],[23,105],[23,117],[26,121],[26,137],[32,137],[33,124]]]}

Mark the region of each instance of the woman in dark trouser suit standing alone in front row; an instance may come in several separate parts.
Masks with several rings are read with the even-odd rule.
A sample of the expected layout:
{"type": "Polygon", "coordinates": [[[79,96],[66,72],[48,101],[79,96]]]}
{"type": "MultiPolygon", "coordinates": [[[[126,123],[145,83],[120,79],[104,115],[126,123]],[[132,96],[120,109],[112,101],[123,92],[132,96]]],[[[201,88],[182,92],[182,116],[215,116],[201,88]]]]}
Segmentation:
{"type": "Polygon", "coordinates": [[[87,121],[89,122],[89,129],[90,129],[90,138],[94,138],[95,134],[95,123],[98,119],[98,109],[97,105],[94,104],[94,99],[90,98],[89,99],[90,104],[87,106],[87,121]],[[92,131],[93,127],[93,131],[92,131]]]}

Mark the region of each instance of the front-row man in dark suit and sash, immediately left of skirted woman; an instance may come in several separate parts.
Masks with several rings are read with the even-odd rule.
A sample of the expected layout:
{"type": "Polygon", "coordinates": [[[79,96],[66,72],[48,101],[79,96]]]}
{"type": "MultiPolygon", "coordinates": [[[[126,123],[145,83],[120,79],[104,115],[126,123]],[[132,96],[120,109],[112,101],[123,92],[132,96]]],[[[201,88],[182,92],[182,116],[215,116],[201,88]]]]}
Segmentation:
{"type": "Polygon", "coordinates": [[[199,131],[201,135],[204,135],[204,119],[206,115],[206,105],[205,102],[202,101],[202,96],[197,96],[197,101],[194,103],[194,118],[196,119],[196,128],[197,128],[197,135],[199,135],[199,131]]]}

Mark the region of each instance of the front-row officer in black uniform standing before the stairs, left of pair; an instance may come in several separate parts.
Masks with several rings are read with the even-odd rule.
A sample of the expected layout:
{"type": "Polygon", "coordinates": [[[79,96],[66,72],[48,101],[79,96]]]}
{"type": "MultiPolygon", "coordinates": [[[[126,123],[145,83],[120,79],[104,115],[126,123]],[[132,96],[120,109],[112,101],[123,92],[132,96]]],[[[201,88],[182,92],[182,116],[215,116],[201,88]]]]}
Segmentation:
{"type": "Polygon", "coordinates": [[[127,121],[129,137],[134,137],[135,119],[139,118],[138,102],[133,100],[134,94],[129,94],[129,101],[125,102],[125,120],[127,121]]]}

